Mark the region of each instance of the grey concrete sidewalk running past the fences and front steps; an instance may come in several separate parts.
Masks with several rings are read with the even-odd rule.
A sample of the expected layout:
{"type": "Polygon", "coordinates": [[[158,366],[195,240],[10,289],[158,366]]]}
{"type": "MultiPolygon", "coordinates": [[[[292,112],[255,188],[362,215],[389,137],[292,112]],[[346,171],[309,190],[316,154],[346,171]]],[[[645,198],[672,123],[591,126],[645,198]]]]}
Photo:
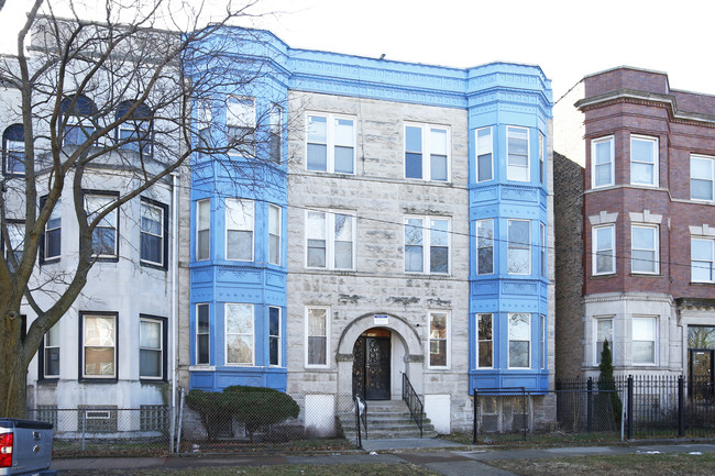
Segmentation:
{"type": "MultiPolygon", "coordinates": [[[[367,443],[365,441],[364,443],[367,443]]],[[[371,440],[364,452],[340,452],[329,455],[276,455],[276,456],[184,456],[184,457],[136,457],[136,458],[78,458],[55,460],[52,469],[92,471],[99,469],[141,469],[180,468],[202,466],[264,466],[264,465],[336,465],[404,462],[425,466],[447,476],[508,476],[512,473],[497,469],[485,462],[493,460],[570,457],[590,455],[617,455],[630,453],[713,453],[715,444],[710,443],[648,443],[635,446],[583,446],[554,447],[539,450],[501,450],[488,446],[462,446],[437,439],[371,440]],[[420,450],[420,451],[410,451],[420,450]],[[427,451],[425,451],[427,450],[427,451]]],[[[62,475],[62,473],[59,473],[62,475]]]]}

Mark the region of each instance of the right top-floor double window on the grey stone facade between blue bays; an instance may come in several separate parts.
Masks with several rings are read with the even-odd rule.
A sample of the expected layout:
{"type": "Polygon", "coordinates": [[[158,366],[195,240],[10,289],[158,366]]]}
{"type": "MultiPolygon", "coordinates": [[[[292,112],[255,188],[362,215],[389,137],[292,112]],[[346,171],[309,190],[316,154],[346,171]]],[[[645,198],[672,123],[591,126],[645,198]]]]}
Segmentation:
{"type": "Polygon", "coordinates": [[[405,125],[405,178],[449,181],[449,147],[447,128],[405,125]]]}

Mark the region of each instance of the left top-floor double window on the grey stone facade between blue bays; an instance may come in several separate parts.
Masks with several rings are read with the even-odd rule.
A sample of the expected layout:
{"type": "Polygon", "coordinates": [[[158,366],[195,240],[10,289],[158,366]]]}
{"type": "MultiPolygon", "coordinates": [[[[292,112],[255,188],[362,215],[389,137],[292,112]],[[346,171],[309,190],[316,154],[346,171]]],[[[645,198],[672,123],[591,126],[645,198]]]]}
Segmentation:
{"type": "Polygon", "coordinates": [[[355,173],[355,121],[333,114],[308,114],[308,170],[355,173]]]}

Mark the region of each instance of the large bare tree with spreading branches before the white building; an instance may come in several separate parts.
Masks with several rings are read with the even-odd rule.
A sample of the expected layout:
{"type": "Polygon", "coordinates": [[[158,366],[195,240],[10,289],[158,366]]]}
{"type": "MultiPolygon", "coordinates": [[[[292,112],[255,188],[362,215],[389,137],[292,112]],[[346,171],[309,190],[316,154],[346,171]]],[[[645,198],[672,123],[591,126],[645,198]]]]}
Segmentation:
{"type": "Polygon", "coordinates": [[[210,107],[201,106],[216,91],[250,96],[265,74],[261,60],[235,55],[235,45],[251,33],[234,37],[239,29],[226,27],[252,15],[256,1],[229,5],[206,24],[197,2],[148,0],[138,7],[106,0],[98,21],[84,19],[75,1],[34,1],[16,54],[0,58],[0,88],[10,98],[3,113],[16,122],[3,135],[0,417],[26,414],[28,367],[105,253],[107,217],[166,184],[196,154],[220,163],[238,182],[255,176],[246,170],[246,157],[249,164],[266,166],[271,137],[260,136],[253,124],[223,131],[228,139],[215,141],[210,107]],[[62,18],[56,4],[68,4],[70,13],[62,18]],[[235,66],[239,60],[242,67],[235,66]],[[221,160],[235,150],[244,157],[240,167],[221,160]],[[108,178],[121,182],[121,191],[88,203],[84,192],[108,178]],[[67,189],[78,252],[69,265],[45,270],[37,266],[38,255],[67,189]],[[34,314],[26,330],[22,306],[34,314]]]}

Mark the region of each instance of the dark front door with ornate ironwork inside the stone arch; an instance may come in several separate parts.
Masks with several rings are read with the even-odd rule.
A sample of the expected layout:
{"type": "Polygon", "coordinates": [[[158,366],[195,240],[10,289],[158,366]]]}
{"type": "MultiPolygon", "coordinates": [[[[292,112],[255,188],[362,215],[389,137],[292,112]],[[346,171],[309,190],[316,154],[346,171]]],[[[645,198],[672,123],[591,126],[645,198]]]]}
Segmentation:
{"type": "Polygon", "coordinates": [[[365,400],[389,400],[389,331],[369,330],[353,347],[353,392],[365,400]]]}

